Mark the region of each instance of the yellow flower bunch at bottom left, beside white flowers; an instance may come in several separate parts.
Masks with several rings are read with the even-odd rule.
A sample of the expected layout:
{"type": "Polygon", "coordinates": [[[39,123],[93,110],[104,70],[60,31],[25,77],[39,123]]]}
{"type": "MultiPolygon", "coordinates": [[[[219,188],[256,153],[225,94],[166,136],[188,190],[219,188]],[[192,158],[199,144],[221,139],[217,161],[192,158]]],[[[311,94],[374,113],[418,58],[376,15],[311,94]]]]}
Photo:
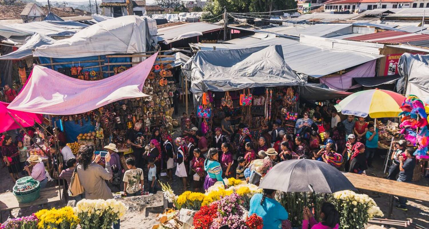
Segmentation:
{"type": "Polygon", "coordinates": [[[64,208],[50,210],[42,209],[35,213],[39,222],[39,229],[76,229],[79,223],[78,217],[73,213],[73,208],[66,206],[64,208]]]}

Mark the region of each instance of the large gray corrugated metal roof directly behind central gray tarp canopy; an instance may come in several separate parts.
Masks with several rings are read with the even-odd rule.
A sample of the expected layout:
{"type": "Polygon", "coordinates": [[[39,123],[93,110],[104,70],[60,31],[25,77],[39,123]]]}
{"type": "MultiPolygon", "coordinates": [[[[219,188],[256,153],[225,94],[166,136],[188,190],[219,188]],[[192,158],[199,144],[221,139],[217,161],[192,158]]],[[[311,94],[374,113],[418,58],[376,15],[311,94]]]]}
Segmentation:
{"type": "MultiPolygon", "coordinates": [[[[301,36],[302,39],[303,36],[301,36]]],[[[310,36],[305,36],[309,39],[310,36]]],[[[316,37],[317,38],[317,37],[316,37]]],[[[326,41],[341,42],[344,40],[335,40],[322,38],[326,41]]],[[[344,41],[345,42],[345,41],[344,41]]],[[[354,43],[354,42],[351,42],[354,43]]],[[[355,44],[360,42],[355,42],[355,44]]],[[[308,76],[321,77],[330,73],[335,73],[339,70],[344,70],[359,64],[382,57],[383,55],[369,54],[363,52],[353,52],[349,49],[337,49],[308,45],[294,40],[274,37],[270,39],[257,39],[252,37],[241,37],[229,40],[222,44],[192,44],[192,46],[200,47],[204,50],[216,49],[241,49],[256,46],[281,45],[286,63],[296,72],[304,73],[308,76]],[[346,51],[347,50],[347,51],[346,51]]],[[[344,44],[346,45],[346,44],[344,44]]],[[[372,44],[374,47],[382,47],[382,45],[372,44]]],[[[346,45],[347,46],[347,45],[346,45]]],[[[347,47],[348,48],[348,47],[347,47]]]]}

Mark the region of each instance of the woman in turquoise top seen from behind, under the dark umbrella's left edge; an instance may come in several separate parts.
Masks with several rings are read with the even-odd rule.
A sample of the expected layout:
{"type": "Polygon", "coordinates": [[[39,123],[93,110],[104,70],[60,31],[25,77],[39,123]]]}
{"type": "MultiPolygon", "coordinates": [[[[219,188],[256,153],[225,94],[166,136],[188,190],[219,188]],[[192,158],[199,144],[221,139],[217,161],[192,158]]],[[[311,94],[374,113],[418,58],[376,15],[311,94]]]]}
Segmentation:
{"type": "Polygon", "coordinates": [[[250,199],[251,214],[257,214],[263,220],[263,229],[281,228],[283,220],[287,220],[287,211],[275,199],[275,190],[263,189],[263,194],[257,193],[250,199]]]}

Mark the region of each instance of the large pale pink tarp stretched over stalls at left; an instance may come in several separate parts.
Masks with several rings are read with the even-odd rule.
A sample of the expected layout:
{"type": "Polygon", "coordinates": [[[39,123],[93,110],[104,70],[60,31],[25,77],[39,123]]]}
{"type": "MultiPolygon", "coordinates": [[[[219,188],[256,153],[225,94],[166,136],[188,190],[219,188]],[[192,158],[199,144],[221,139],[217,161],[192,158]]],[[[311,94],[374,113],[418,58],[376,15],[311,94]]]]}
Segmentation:
{"type": "Polygon", "coordinates": [[[142,92],[157,53],[115,76],[97,81],[75,79],[42,66],[34,66],[11,110],[70,115],[85,113],[112,102],[148,96],[142,92]]]}

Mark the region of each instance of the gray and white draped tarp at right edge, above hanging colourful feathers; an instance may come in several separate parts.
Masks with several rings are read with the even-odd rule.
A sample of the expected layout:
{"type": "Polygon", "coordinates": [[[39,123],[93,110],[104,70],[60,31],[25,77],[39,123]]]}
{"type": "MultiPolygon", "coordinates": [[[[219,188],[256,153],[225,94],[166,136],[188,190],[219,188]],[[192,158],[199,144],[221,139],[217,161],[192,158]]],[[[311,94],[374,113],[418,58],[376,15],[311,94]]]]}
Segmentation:
{"type": "Polygon", "coordinates": [[[396,83],[397,92],[416,95],[423,101],[429,98],[429,55],[402,54],[398,71],[401,78],[396,83]]]}

